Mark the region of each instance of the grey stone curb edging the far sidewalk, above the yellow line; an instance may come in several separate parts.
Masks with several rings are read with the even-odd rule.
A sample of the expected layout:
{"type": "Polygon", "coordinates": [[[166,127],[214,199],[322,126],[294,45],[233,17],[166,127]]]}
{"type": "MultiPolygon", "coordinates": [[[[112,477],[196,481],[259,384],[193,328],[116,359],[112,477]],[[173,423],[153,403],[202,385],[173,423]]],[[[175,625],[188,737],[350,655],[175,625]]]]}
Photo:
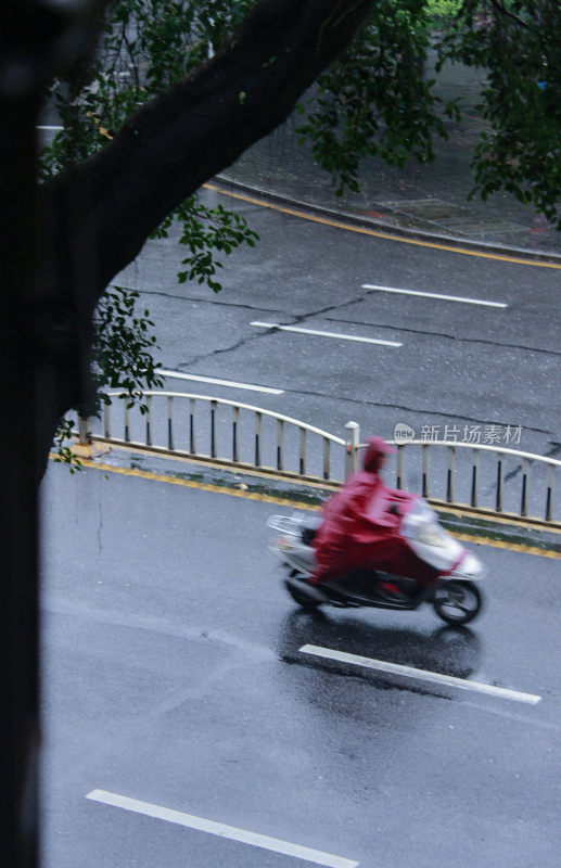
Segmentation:
{"type": "MultiPolygon", "coordinates": [[[[332,220],[345,220],[354,226],[359,226],[362,228],[369,229],[377,229],[379,231],[386,232],[391,235],[398,235],[406,239],[411,239],[416,241],[425,241],[426,243],[437,243],[442,244],[443,246],[447,247],[464,247],[467,251],[474,251],[480,253],[487,253],[489,255],[495,254],[499,256],[512,256],[520,259],[528,259],[531,261],[536,263],[553,263],[561,267],[561,254],[557,253],[546,253],[545,251],[530,251],[525,247],[509,247],[500,244],[488,244],[485,241],[473,241],[471,239],[458,238],[457,235],[442,235],[437,232],[425,232],[422,229],[408,229],[407,227],[399,227],[393,226],[391,224],[386,224],[383,220],[375,220],[371,217],[360,217],[353,212],[347,210],[335,210],[334,208],[329,208],[323,205],[315,205],[309,202],[303,202],[302,200],[294,199],[293,196],[288,196],[283,193],[273,193],[270,190],[264,190],[260,187],[254,187],[252,184],[246,184],[241,181],[234,181],[230,178],[226,178],[222,175],[217,175],[213,179],[216,183],[221,184],[222,187],[230,187],[234,190],[240,190],[241,192],[245,192],[250,195],[260,196],[262,199],[266,199],[270,202],[278,202],[282,205],[288,205],[293,208],[297,208],[303,212],[308,212],[311,214],[317,214],[318,216],[326,217],[332,220]]],[[[377,203],[373,203],[375,205],[377,203]]],[[[390,209],[384,205],[377,205],[383,210],[390,209]]]]}

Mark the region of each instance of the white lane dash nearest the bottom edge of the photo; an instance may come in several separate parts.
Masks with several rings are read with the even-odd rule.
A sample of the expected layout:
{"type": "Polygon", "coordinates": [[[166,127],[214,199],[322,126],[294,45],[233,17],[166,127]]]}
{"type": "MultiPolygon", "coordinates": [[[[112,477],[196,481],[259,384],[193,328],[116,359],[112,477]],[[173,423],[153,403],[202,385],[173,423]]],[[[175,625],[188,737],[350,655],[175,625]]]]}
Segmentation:
{"type": "Polygon", "coordinates": [[[327,868],[356,868],[359,865],[354,859],[345,859],[341,856],[333,856],[331,853],[323,853],[320,850],[291,844],[289,841],[281,841],[278,838],[269,838],[266,834],[237,829],[234,826],[225,826],[222,822],[207,820],[204,817],[183,814],[182,810],[171,810],[160,805],[152,805],[149,802],[139,802],[138,799],[129,799],[126,795],[110,793],[106,790],[92,790],[87,794],[86,799],[90,799],[93,802],[102,802],[104,805],[120,807],[125,810],[132,810],[136,814],[143,814],[146,817],[175,822],[178,826],[184,826],[187,829],[196,829],[197,831],[217,834],[232,841],[240,841],[242,844],[251,844],[255,847],[262,847],[262,850],[271,850],[273,853],[294,856],[296,859],[313,861],[315,865],[324,865],[327,868]]]}

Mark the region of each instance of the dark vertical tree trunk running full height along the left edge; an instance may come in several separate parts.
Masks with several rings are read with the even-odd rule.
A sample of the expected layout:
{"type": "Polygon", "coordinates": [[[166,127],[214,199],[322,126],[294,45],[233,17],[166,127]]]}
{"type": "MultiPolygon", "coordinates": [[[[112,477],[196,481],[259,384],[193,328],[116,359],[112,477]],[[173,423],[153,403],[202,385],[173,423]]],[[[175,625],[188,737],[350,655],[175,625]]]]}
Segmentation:
{"type": "Polygon", "coordinates": [[[4,0],[0,29],[0,695],[1,861],[34,868],[38,859],[38,570],[37,487],[52,437],[55,369],[37,341],[35,297],[36,124],[52,69],[92,43],[102,0],[79,14],[38,0],[4,0]],[[68,42],[65,39],[68,38],[68,42]]]}

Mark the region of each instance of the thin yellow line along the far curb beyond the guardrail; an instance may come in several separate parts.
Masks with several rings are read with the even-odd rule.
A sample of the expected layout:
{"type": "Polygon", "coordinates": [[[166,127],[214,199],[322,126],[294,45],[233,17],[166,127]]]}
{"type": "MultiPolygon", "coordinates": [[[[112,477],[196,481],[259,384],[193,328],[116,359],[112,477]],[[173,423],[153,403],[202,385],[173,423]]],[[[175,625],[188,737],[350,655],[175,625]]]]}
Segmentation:
{"type": "Polygon", "coordinates": [[[561,269],[561,264],[559,263],[545,263],[535,259],[524,259],[522,256],[509,256],[508,254],[499,254],[499,253],[485,253],[484,251],[471,251],[468,247],[459,247],[452,244],[438,244],[435,241],[421,241],[420,239],[413,238],[403,238],[398,234],[392,234],[391,232],[382,232],[381,230],[377,229],[368,229],[367,227],[360,226],[352,226],[350,224],[343,222],[342,220],[330,220],[327,217],[320,217],[317,214],[308,214],[304,210],[299,210],[297,208],[290,208],[284,205],[277,205],[272,202],[267,202],[264,199],[257,199],[256,196],[248,196],[244,193],[234,193],[230,190],[226,190],[224,187],[217,187],[213,183],[204,183],[207,190],[214,190],[217,193],[220,193],[225,196],[230,196],[231,199],[239,199],[241,202],[247,202],[251,205],[259,205],[262,208],[270,208],[271,210],[278,210],[281,214],[289,214],[292,217],[301,217],[303,220],[310,220],[315,224],[321,224],[322,226],[331,226],[335,229],[345,229],[347,232],[358,232],[361,235],[371,235],[372,238],[382,238],[385,241],[398,241],[401,244],[413,244],[418,247],[432,247],[433,250],[437,251],[446,251],[447,253],[459,253],[463,256],[479,256],[483,259],[496,259],[502,263],[513,263],[515,265],[533,265],[538,266],[539,268],[558,268],[561,269]]]}

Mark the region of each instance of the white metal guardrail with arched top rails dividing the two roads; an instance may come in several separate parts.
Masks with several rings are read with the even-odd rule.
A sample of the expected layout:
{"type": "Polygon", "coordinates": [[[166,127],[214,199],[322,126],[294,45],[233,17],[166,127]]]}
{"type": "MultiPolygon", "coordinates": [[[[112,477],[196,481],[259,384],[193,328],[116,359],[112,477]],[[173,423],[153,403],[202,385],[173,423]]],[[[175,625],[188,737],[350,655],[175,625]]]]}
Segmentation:
{"type": "MultiPolygon", "coordinates": [[[[145,412],[129,409],[120,393],[101,420],[79,424],[92,437],[164,455],[196,458],[290,478],[341,484],[360,465],[360,426],[344,437],[297,419],[239,401],[181,392],[144,392],[145,412]]],[[[484,444],[410,441],[395,444],[386,478],[437,506],[483,515],[531,520],[561,528],[556,511],[554,458],[484,444]]]]}

